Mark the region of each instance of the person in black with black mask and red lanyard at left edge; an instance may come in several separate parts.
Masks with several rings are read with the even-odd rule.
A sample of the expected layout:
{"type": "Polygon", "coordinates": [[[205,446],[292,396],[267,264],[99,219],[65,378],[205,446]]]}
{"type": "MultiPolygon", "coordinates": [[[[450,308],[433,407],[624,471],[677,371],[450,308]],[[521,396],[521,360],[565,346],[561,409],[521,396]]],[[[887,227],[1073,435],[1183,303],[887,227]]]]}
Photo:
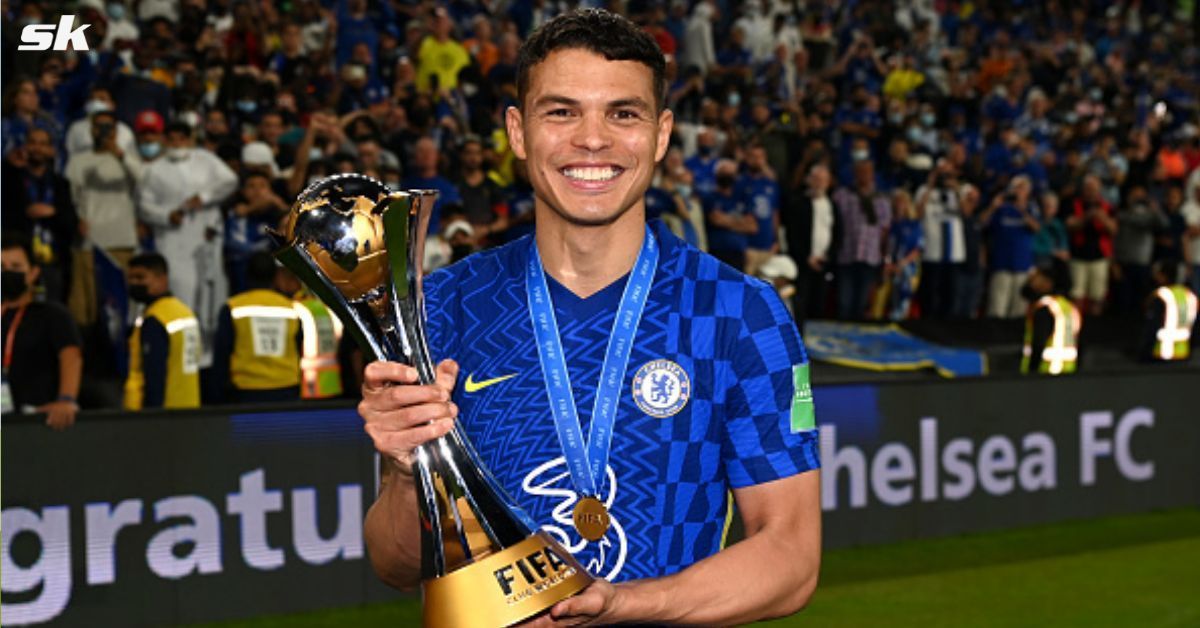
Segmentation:
{"type": "Polygon", "coordinates": [[[83,373],[83,339],[65,307],[35,301],[38,268],[29,240],[0,239],[0,307],[4,309],[4,413],[44,412],[46,424],[74,423],[83,373]]]}

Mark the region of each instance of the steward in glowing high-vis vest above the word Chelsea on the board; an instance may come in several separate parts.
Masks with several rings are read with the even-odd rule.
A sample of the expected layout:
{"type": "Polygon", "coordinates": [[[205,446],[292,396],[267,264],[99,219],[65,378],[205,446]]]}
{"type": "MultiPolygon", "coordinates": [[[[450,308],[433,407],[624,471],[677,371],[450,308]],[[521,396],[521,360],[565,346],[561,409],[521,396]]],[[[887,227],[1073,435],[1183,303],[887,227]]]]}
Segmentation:
{"type": "Polygon", "coordinates": [[[1038,265],[1021,289],[1030,303],[1021,347],[1021,373],[1068,375],[1079,365],[1079,307],[1070,292],[1070,271],[1061,259],[1038,265]]]}

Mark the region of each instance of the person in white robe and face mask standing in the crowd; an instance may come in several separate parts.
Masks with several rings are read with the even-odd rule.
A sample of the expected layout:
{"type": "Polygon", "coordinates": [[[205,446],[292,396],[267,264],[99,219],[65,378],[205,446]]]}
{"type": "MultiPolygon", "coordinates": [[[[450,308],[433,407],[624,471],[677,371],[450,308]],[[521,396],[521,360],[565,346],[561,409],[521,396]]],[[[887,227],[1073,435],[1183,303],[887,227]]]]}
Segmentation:
{"type": "Polygon", "coordinates": [[[142,220],[172,267],[170,291],[199,315],[210,333],[226,299],[221,204],[238,190],[238,175],[216,155],[196,148],[191,127],[167,127],[166,151],[151,162],[138,191],[142,220]]]}

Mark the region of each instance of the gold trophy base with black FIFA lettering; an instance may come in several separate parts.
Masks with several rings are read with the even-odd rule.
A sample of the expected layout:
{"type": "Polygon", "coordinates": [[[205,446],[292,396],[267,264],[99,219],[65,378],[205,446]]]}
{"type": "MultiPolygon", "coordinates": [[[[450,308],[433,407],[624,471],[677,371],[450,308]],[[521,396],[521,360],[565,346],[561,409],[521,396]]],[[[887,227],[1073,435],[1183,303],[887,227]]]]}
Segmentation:
{"type": "Polygon", "coordinates": [[[578,593],[593,578],[550,534],[421,582],[426,628],[512,626],[578,593]]]}

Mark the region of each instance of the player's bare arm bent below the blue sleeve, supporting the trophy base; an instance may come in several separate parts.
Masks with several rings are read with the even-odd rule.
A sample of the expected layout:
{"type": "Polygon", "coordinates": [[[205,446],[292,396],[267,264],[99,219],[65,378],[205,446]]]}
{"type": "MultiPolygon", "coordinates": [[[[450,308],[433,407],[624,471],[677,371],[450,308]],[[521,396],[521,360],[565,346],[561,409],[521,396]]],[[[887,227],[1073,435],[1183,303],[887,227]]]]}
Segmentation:
{"type": "Polygon", "coordinates": [[[596,582],[560,602],[556,622],[728,626],[791,615],[808,604],[821,567],[821,474],[737,489],[746,539],[679,572],[620,585],[596,582]],[[755,582],[755,586],[731,586],[755,582]]]}

